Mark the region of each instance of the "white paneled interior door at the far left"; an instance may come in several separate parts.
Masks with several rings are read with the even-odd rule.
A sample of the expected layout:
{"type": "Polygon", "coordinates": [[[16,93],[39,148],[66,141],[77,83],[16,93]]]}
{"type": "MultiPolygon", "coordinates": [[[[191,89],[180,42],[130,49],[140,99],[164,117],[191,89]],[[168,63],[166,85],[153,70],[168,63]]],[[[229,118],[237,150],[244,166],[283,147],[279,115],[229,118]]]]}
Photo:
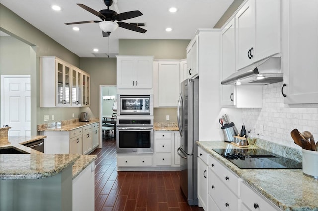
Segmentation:
{"type": "Polygon", "coordinates": [[[1,127],[9,136],[31,135],[31,82],[29,75],[1,76],[1,127]]]}

